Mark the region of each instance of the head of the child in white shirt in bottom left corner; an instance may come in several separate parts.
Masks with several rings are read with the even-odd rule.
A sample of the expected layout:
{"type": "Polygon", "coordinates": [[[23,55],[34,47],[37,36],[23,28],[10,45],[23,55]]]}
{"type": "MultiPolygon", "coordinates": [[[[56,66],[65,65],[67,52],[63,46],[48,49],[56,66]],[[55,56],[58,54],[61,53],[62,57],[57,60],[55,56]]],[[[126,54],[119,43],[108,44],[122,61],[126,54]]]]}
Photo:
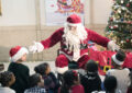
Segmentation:
{"type": "Polygon", "coordinates": [[[10,71],[0,73],[0,83],[2,86],[11,86],[15,82],[15,77],[10,71]]]}

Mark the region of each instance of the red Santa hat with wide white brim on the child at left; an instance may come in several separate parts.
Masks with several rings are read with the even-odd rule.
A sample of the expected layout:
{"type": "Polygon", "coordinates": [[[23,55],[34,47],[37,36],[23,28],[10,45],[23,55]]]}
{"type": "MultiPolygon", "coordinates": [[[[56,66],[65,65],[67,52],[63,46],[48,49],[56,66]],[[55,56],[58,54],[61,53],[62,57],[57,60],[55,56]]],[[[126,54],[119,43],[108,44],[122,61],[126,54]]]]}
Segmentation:
{"type": "Polygon", "coordinates": [[[10,49],[10,60],[15,62],[19,60],[24,54],[29,54],[28,49],[25,47],[15,46],[10,49]]]}

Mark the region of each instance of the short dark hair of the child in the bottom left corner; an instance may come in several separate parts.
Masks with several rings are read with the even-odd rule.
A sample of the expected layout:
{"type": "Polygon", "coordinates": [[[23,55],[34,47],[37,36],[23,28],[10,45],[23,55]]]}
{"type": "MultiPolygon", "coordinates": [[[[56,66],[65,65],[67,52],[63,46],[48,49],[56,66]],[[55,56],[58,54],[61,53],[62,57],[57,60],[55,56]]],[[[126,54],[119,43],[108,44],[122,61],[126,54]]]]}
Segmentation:
{"type": "Polygon", "coordinates": [[[0,73],[0,83],[2,86],[9,86],[9,82],[12,80],[13,73],[10,71],[4,71],[0,73]]]}

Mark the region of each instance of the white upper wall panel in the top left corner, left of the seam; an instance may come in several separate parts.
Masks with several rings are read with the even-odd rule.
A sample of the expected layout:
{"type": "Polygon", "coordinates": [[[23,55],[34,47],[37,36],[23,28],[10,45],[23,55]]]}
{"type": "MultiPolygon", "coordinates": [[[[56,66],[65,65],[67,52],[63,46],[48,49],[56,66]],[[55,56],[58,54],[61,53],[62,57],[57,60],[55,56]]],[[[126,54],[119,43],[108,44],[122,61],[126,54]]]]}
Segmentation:
{"type": "Polygon", "coordinates": [[[35,0],[1,0],[0,26],[35,25],[35,0]]]}

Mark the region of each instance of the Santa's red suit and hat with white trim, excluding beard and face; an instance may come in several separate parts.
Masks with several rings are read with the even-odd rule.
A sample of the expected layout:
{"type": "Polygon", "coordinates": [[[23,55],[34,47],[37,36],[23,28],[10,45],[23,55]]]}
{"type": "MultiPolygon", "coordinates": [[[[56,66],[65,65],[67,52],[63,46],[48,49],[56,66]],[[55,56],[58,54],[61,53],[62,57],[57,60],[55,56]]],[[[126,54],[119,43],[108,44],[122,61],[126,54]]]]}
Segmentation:
{"type": "MultiPolygon", "coordinates": [[[[75,26],[80,24],[80,18],[76,14],[73,14],[67,18],[68,25],[75,26]]],[[[86,38],[80,40],[78,48],[75,49],[75,47],[70,47],[70,45],[67,44],[66,37],[65,37],[65,27],[61,27],[57,31],[53,33],[47,39],[42,40],[37,49],[42,47],[43,49],[48,49],[56,45],[57,43],[61,43],[61,54],[57,56],[55,65],[57,68],[57,71],[59,73],[65,72],[68,69],[68,61],[76,61],[79,66],[79,68],[84,68],[85,63],[89,60],[88,57],[88,40],[91,40],[98,45],[101,45],[103,47],[111,46],[113,43],[110,42],[107,37],[103,37],[96,32],[88,30],[84,27],[86,35],[86,38]],[[42,46],[43,45],[43,46],[42,46]]],[[[36,44],[37,45],[37,44],[36,44]]]]}

